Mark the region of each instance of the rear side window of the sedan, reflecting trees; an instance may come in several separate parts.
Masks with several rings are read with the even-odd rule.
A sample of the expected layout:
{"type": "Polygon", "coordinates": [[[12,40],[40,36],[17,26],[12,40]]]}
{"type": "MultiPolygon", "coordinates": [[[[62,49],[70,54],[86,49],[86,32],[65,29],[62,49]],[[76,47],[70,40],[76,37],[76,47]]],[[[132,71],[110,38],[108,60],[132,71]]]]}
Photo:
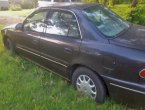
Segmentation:
{"type": "Polygon", "coordinates": [[[54,11],[47,19],[46,33],[78,37],[79,29],[76,18],[72,13],[54,11]]]}

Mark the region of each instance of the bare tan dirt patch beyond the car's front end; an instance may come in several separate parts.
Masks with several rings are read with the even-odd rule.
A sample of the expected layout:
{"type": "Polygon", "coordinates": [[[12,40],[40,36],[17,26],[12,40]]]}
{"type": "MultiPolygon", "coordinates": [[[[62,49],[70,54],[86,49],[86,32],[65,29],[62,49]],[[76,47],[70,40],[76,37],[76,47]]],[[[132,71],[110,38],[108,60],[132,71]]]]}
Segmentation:
{"type": "Polygon", "coordinates": [[[15,23],[23,22],[24,18],[22,17],[14,17],[14,16],[1,16],[0,15],[0,24],[2,25],[11,25],[15,23]]]}

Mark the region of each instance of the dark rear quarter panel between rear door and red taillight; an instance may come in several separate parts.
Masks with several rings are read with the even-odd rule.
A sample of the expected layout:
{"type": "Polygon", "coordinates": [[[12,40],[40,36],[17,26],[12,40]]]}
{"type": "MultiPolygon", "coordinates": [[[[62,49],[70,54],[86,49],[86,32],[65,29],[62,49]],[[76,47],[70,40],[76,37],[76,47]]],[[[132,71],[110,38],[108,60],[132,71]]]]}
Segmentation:
{"type": "Polygon", "coordinates": [[[139,82],[139,71],[145,68],[143,51],[92,40],[83,41],[80,50],[73,64],[85,65],[99,75],[139,82]]]}

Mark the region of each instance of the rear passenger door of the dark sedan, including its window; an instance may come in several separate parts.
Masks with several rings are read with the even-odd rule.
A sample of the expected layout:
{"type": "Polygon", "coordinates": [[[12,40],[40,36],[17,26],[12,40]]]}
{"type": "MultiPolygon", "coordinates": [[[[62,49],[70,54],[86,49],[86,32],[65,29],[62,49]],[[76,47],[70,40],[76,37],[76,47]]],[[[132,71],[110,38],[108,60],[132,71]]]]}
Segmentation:
{"type": "Polygon", "coordinates": [[[44,65],[66,75],[66,68],[79,55],[81,44],[76,16],[69,11],[51,9],[45,33],[40,38],[44,65]]]}

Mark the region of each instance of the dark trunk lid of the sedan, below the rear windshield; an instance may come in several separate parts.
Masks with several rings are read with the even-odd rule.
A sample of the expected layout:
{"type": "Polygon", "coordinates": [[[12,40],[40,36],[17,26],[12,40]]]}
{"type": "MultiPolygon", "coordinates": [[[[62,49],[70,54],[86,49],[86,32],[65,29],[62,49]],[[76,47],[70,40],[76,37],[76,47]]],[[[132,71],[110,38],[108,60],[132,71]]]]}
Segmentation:
{"type": "Polygon", "coordinates": [[[133,24],[125,33],[110,40],[110,43],[145,50],[145,27],[133,24]]]}

